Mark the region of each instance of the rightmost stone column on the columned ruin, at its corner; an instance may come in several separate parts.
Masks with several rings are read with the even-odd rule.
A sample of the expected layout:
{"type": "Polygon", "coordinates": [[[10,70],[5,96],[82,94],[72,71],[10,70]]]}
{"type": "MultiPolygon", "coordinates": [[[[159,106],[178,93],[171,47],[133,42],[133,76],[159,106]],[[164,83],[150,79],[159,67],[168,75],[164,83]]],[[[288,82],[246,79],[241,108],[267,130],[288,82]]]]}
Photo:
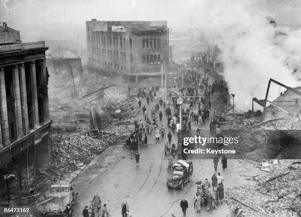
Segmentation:
{"type": "Polygon", "coordinates": [[[41,77],[43,84],[43,109],[44,109],[44,121],[49,121],[49,106],[48,106],[48,89],[47,89],[47,71],[46,60],[41,60],[41,77]]]}

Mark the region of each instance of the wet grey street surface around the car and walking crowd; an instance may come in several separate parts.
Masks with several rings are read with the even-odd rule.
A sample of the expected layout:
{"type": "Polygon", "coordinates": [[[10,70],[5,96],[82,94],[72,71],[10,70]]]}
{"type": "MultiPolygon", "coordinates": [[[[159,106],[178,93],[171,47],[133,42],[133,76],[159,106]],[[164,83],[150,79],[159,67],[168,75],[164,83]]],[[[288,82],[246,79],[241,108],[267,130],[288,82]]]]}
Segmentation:
{"type": "MultiPolygon", "coordinates": [[[[145,99],[141,101],[142,106],[147,106],[145,99]]],[[[148,112],[155,103],[157,102],[150,102],[147,106],[148,112]]],[[[138,103],[134,106],[139,109],[138,103]]],[[[158,112],[156,115],[158,116],[158,112]]],[[[141,111],[137,119],[142,118],[141,111]]],[[[161,125],[167,128],[167,118],[164,114],[158,126],[161,125]]],[[[197,126],[193,125],[192,129],[197,129],[197,126]]],[[[201,129],[209,129],[209,121],[201,126],[201,129]]],[[[169,129],[167,133],[168,131],[169,129]]],[[[220,205],[218,210],[214,210],[212,215],[204,207],[201,213],[196,213],[193,209],[193,198],[197,190],[195,182],[206,178],[211,181],[213,173],[217,175],[217,172],[220,172],[225,179],[223,181],[225,192],[228,187],[235,185],[253,185],[252,181],[246,180],[244,176],[252,176],[254,170],[251,166],[240,164],[237,160],[228,160],[228,169],[225,171],[219,163],[217,172],[214,171],[213,160],[192,160],[194,172],[191,181],[187,182],[182,190],[169,189],[166,181],[167,178],[171,178],[172,172],[167,172],[168,162],[164,155],[164,140],[156,144],[154,131],[152,135],[147,134],[147,136],[148,147],[139,146],[139,166],[136,166],[134,154],[123,149],[123,143],[111,145],[91,161],[73,182],[79,193],[79,202],[75,205],[73,217],[82,216],[85,205],[90,206],[89,201],[92,200],[95,191],[98,191],[102,205],[107,204],[108,212],[112,217],[121,216],[123,199],[128,202],[133,217],[171,217],[172,213],[176,217],[182,217],[180,208],[182,198],[185,198],[189,205],[186,217],[225,217],[231,212],[225,203],[220,205]]],[[[176,134],[173,134],[172,140],[177,142],[176,134]]],[[[176,161],[177,159],[174,163],[176,161]]]]}

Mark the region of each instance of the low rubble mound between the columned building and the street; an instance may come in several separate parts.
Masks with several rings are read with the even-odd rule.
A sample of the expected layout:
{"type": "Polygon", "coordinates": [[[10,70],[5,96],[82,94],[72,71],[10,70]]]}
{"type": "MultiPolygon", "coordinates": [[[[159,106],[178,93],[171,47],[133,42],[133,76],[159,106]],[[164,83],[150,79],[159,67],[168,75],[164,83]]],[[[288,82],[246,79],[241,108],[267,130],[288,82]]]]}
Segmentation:
{"type": "Polygon", "coordinates": [[[54,146],[54,166],[57,168],[69,166],[77,169],[90,163],[92,158],[108,145],[80,133],[52,134],[50,138],[54,146]]]}

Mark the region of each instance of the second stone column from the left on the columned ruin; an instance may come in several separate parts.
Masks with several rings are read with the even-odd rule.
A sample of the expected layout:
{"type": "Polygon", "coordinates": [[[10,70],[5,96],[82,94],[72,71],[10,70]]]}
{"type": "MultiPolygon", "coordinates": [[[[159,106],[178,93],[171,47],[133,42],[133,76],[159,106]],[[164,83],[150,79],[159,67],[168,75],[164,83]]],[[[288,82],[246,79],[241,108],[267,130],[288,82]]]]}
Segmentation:
{"type": "Polygon", "coordinates": [[[15,117],[16,117],[16,129],[17,129],[17,139],[24,136],[23,134],[23,124],[22,124],[22,111],[21,111],[21,96],[20,96],[20,82],[19,82],[19,69],[18,65],[12,67],[12,77],[13,77],[13,89],[15,98],[15,117]]]}

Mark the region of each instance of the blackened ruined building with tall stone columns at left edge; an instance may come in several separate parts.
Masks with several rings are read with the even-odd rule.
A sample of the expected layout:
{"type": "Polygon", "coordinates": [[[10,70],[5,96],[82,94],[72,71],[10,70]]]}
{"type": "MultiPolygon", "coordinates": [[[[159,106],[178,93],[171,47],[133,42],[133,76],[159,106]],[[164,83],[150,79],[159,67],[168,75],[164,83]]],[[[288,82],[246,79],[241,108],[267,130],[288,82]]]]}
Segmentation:
{"type": "Polygon", "coordinates": [[[43,41],[21,43],[19,31],[0,23],[0,174],[5,180],[12,163],[20,185],[22,167],[50,162],[47,49],[43,41]]]}

